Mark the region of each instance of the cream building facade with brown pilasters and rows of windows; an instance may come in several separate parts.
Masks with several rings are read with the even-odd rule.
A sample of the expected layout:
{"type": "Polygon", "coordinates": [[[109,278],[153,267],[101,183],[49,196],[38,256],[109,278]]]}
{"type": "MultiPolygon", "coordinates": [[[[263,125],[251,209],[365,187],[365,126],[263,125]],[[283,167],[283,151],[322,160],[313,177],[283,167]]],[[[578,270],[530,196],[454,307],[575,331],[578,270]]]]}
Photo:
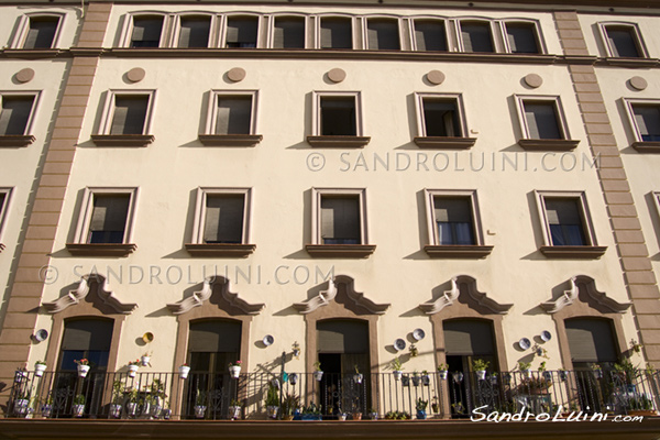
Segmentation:
{"type": "MultiPolygon", "coordinates": [[[[6,416],[36,361],[67,411],[150,355],[197,377],[177,417],[201,389],[246,419],[317,362],[334,415],[354,371],[353,413],[394,410],[395,359],[654,377],[657,2],[0,8],[6,416]],[[82,358],[106,378],[72,392],[82,358]],[[211,384],[239,360],[257,391],[211,384]]],[[[460,417],[469,382],[420,396],[460,417]]]]}

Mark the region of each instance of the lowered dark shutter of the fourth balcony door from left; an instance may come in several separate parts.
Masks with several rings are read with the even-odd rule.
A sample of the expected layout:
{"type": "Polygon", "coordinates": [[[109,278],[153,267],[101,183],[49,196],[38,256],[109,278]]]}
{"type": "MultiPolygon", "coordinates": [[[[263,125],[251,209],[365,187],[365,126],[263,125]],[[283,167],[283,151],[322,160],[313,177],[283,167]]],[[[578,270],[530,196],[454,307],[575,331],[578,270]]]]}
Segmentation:
{"type": "Polygon", "coordinates": [[[495,354],[493,324],[480,320],[451,320],[442,323],[448,356],[495,354]]]}

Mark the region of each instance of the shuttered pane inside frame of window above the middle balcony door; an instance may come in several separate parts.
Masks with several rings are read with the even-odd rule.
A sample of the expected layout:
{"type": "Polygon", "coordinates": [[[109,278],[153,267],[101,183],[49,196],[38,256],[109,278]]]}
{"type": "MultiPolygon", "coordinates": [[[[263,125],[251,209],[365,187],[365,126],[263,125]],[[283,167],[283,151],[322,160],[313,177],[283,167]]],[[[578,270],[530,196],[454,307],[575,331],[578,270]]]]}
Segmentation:
{"type": "Polygon", "coordinates": [[[358,196],[322,196],[320,217],[323,244],[362,243],[358,196]]]}

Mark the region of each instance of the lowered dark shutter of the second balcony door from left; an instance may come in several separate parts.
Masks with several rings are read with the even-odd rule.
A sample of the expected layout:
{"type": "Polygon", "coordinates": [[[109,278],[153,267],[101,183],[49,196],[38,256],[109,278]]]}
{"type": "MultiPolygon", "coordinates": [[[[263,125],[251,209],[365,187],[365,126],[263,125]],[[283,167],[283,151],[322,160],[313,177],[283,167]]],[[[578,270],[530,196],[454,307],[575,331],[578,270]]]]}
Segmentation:
{"type": "Polygon", "coordinates": [[[241,322],[224,320],[190,322],[188,352],[240,353],[241,327],[241,322]]]}

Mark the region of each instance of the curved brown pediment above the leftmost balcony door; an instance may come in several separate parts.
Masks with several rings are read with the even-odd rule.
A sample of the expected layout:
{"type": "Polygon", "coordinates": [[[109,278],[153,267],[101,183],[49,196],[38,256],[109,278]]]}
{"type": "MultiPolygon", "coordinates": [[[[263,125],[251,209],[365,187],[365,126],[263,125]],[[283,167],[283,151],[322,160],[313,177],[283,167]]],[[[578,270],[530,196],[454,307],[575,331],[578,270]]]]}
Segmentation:
{"type": "Polygon", "coordinates": [[[68,295],[65,295],[55,301],[43,302],[42,306],[44,306],[48,314],[57,314],[70,306],[80,304],[85,298],[87,298],[87,295],[90,292],[92,292],[103,305],[110,307],[118,314],[130,315],[138,308],[136,304],[124,304],[120,301],[114,296],[114,292],[110,290],[108,279],[98,274],[82,276],[82,278],[80,278],[80,283],[78,284],[78,288],[75,290],[69,290],[68,295]],[[90,289],[91,283],[97,283],[95,289],[90,289]]]}

